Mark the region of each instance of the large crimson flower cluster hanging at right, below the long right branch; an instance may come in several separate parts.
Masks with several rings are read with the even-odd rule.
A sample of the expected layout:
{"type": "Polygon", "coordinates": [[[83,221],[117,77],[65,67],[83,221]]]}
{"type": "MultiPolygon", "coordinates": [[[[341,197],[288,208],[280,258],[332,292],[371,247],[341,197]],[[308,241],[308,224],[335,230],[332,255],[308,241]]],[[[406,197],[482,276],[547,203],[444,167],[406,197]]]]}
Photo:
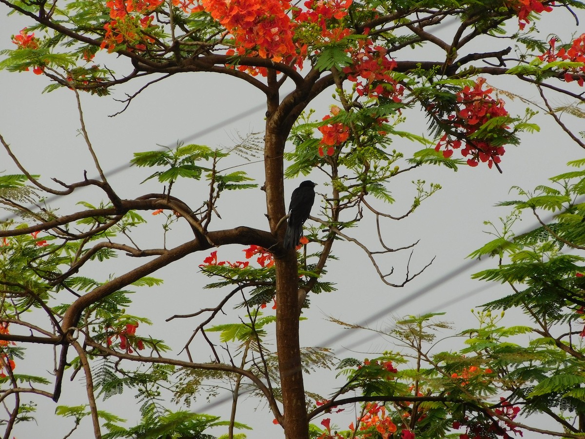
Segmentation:
{"type": "MultiPolygon", "coordinates": [[[[483,89],[485,82],[485,78],[477,78],[474,87],[466,85],[463,90],[457,93],[459,111],[450,115],[447,122],[459,131],[461,137],[466,138],[465,147],[461,153],[465,157],[470,156],[467,159],[467,164],[477,166],[480,162],[487,162],[487,166],[491,169],[494,163],[501,162],[500,157],[505,153],[504,147],[494,145],[491,137],[480,138],[476,136],[473,139],[470,137],[473,137],[473,134],[491,119],[507,116],[508,112],[504,108],[503,100],[491,97],[493,88],[483,89]]],[[[432,108],[429,109],[432,111],[432,108]]],[[[505,124],[494,126],[491,133],[505,131],[507,128],[508,126],[505,124]]],[[[453,155],[453,149],[459,149],[461,146],[462,140],[453,138],[450,133],[445,133],[436,144],[435,150],[439,151],[444,148],[443,156],[450,157],[453,155]]]]}

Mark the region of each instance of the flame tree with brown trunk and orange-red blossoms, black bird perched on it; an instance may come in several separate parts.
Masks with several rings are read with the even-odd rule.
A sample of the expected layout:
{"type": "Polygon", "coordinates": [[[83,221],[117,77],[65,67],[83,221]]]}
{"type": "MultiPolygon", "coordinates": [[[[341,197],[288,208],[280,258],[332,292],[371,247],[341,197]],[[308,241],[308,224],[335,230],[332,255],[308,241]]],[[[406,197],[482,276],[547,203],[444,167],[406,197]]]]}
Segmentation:
{"type": "MultiPolygon", "coordinates": [[[[264,228],[214,228],[222,193],[256,187],[242,171],[219,170],[218,161],[230,151],[178,145],[136,153],[133,163],[153,168],[149,178],[156,177],[165,189],[126,200],[118,196],[102,170],[85,131],[81,105],[81,132],[94,157],[97,179],[84,177],[73,183],[54,179],[47,186],[22,166],[8,141],[0,138],[6,155],[22,172],[0,176],[0,203],[12,214],[0,230],[2,399],[12,398],[5,437],[32,410],[20,396],[35,393],[59,400],[68,370],[85,374],[88,404],[59,406],[57,413],[76,420],[90,417],[95,437],[200,437],[205,428],[223,421],[204,414],[154,410],[158,403],[149,392],[153,383],[167,382],[177,400],[188,400],[205,379],[231,380],[236,395],[242,379],[250,380],[290,439],[308,438],[309,429],[321,437],[338,434],[329,421],[322,423],[324,430],[309,428],[309,421],[331,410],[344,393],[354,389],[362,389],[363,396],[343,401],[366,405],[356,427],[347,433],[352,437],[437,437],[437,431],[442,432],[440,436],[450,428],[445,424],[448,417],[431,416],[428,411],[439,410],[439,406],[449,413],[452,423],[467,422],[467,411],[472,410],[481,413],[488,424],[493,421],[489,424],[495,426],[493,434],[504,435],[515,428],[507,424],[514,420],[514,407],[501,403],[486,409],[466,402],[470,391],[464,386],[486,375],[484,369],[470,366],[460,370],[461,375],[455,373],[452,379],[460,379],[458,388],[464,390],[456,395],[444,389],[429,389],[423,394],[418,385],[399,385],[393,364],[400,359],[386,356],[353,365],[344,362],[342,369],[353,366],[353,372],[347,372],[346,385],[329,398],[331,401],[310,410],[304,368],[330,365],[333,360],[324,350],[301,349],[299,314],[307,305],[307,293],[333,290],[325,276],[326,265],[340,239],[364,251],[381,282],[388,286],[404,286],[428,266],[408,269],[398,280],[394,273],[384,275],[378,255],[397,249],[384,242],[381,234],[381,250],[375,251],[350,233],[350,228],[366,217],[376,218],[377,224],[383,219],[405,218],[440,188],[415,181],[415,196],[407,211],[390,214],[380,210],[379,205],[394,201],[392,189],[404,173],[426,165],[452,169],[488,166],[501,172],[501,158],[508,145],[518,145],[519,133],[538,129],[529,122],[533,111],[520,116],[508,113],[505,102],[487,85],[488,77],[510,76],[534,85],[547,107],[548,94],[583,101],[577,88],[583,85],[585,73],[584,37],[565,43],[535,37],[535,20],[540,15],[565,13],[572,18],[576,16],[573,9],[583,6],[580,1],[308,0],[292,5],[281,0],[0,2],[6,12],[30,20],[27,28],[13,36],[11,49],[2,52],[5,57],[0,67],[32,70],[50,81],[47,91],[67,88],[78,103],[80,92],[108,95],[115,85],[152,77],[128,98],[126,104],[130,105],[148,85],[187,72],[236,77],[266,97],[261,144],[264,228]],[[450,22],[455,26],[449,32],[442,29],[445,37],[439,37],[436,29],[450,22]],[[477,51],[477,47],[490,50],[477,51]],[[422,56],[429,48],[432,61],[422,56]],[[128,60],[129,73],[115,74],[95,64],[94,56],[100,51],[128,60]],[[287,88],[292,85],[292,91],[283,92],[284,84],[287,88]],[[305,110],[328,89],[334,90],[335,105],[329,114],[313,119],[312,112],[305,110]],[[400,130],[399,124],[411,108],[426,115],[428,138],[400,130]],[[398,151],[392,147],[397,138],[421,146],[415,152],[398,151]],[[463,158],[453,157],[455,150],[463,158]],[[312,218],[312,227],[305,233],[301,256],[298,249],[288,251],[281,245],[287,202],[283,180],[312,170],[322,172],[328,193],[316,201],[320,215],[312,218]],[[199,194],[199,204],[189,205],[171,194],[173,187],[185,181],[201,188],[194,191],[199,194]],[[68,214],[50,206],[39,207],[44,197],[71,199],[78,188],[87,186],[102,190],[104,202],[82,203],[82,208],[68,214]],[[35,207],[29,207],[31,203],[35,207]],[[146,243],[135,242],[132,233],[146,222],[141,214],[149,211],[166,215],[167,229],[175,222],[186,222],[192,236],[174,248],[147,248],[146,243]],[[226,245],[245,246],[247,260],[221,260],[220,250],[209,255],[209,249],[226,245]],[[230,287],[231,291],[215,308],[187,316],[208,317],[186,342],[184,356],[165,356],[168,347],[163,341],[140,334],[149,321],[126,313],[128,288],[156,286],[161,281],[150,276],[152,273],[195,252],[205,252],[199,261],[202,273],[215,279],[209,286],[230,287]],[[146,262],[106,281],[78,275],[87,266],[119,253],[146,262]],[[246,323],[211,326],[215,315],[236,294],[242,296],[239,321],[246,323]],[[273,299],[276,317],[263,316],[261,308],[273,299]],[[27,312],[31,310],[36,312],[27,312]],[[46,314],[46,324],[30,317],[38,313],[46,314]],[[264,325],[271,323],[276,325],[278,355],[263,345],[264,325]],[[227,357],[220,355],[209,338],[213,331],[221,332],[221,342],[239,347],[239,365],[230,351],[227,357]],[[192,355],[189,347],[196,335],[208,342],[213,361],[192,355]],[[18,362],[26,358],[25,348],[36,343],[58,348],[50,379],[16,373],[18,362]],[[149,355],[143,354],[146,350],[149,355]],[[102,368],[96,375],[92,365],[97,362],[102,368]],[[130,370],[133,362],[148,365],[149,373],[130,370]],[[127,366],[122,369],[120,364],[127,366]],[[147,402],[143,422],[129,429],[121,426],[120,419],[99,410],[96,398],[96,393],[108,397],[125,386],[138,389],[147,402]],[[396,417],[392,421],[386,413],[390,408],[371,402],[391,402],[394,405],[388,407],[404,416],[400,415],[400,422],[396,417]],[[102,433],[104,428],[108,433],[102,433]]],[[[549,110],[580,143],[554,109],[549,110]]],[[[422,321],[425,319],[411,324],[420,326],[422,321]]],[[[229,437],[235,437],[234,428],[243,427],[235,421],[236,406],[237,397],[226,421],[229,437]]]]}

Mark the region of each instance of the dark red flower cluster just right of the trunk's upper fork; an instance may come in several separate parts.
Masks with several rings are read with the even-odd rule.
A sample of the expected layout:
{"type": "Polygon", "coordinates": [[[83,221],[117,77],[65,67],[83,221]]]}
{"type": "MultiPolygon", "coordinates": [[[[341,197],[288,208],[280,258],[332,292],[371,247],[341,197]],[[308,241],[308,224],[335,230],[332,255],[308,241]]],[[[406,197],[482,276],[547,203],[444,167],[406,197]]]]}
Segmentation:
{"type": "Polygon", "coordinates": [[[390,75],[396,61],[387,56],[387,50],[373,46],[371,40],[360,41],[357,50],[350,50],[353,63],[343,68],[347,79],[356,83],[360,96],[389,98],[401,102],[404,87],[390,75]]]}

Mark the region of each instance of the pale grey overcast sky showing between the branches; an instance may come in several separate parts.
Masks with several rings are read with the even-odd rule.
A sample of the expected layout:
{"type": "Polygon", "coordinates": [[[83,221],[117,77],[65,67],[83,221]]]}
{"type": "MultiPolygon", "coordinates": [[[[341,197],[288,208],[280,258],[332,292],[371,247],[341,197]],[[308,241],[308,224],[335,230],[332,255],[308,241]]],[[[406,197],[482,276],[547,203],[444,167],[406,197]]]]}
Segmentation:
{"type": "MultiPolygon", "coordinates": [[[[12,48],[11,35],[18,33],[26,24],[22,18],[6,17],[6,12],[5,6],[0,6],[0,49],[12,48]]],[[[546,29],[555,30],[563,38],[569,39],[570,35],[562,32],[574,29],[574,22],[565,9],[555,9],[555,12],[545,16],[545,20],[546,29]]],[[[514,26],[514,24],[511,23],[510,26],[514,26]]],[[[582,29],[582,26],[579,26],[578,29],[582,29]]],[[[448,33],[449,28],[443,29],[442,32],[448,33]]],[[[578,31],[578,33],[581,32],[583,30],[578,31]]],[[[543,33],[543,38],[545,37],[546,33],[543,33]]],[[[425,53],[428,59],[435,58],[435,53],[432,50],[429,47],[429,51],[425,53]]],[[[407,55],[408,52],[405,52],[402,56],[407,55]]],[[[436,58],[440,56],[441,54],[436,54],[436,58]]],[[[116,68],[122,66],[115,59],[115,56],[99,54],[97,62],[104,61],[108,66],[116,66],[116,68]]],[[[487,80],[488,83],[497,87],[521,93],[526,98],[540,100],[536,90],[519,85],[518,81],[513,81],[511,78],[487,77],[487,80]]],[[[43,177],[46,177],[45,182],[49,183],[51,177],[68,182],[81,180],[84,170],[88,170],[90,175],[94,173],[94,170],[87,148],[81,136],[77,135],[79,122],[74,96],[67,90],[41,94],[47,84],[49,84],[47,78],[36,76],[32,71],[24,73],[0,71],[0,133],[7,142],[11,143],[13,152],[18,155],[29,172],[42,174],[43,177]]],[[[132,93],[140,85],[142,83],[138,80],[117,87],[113,98],[123,98],[123,93],[132,93]]],[[[318,110],[316,115],[319,118],[328,112],[328,105],[331,104],[330,96],[330,92],[325,92],[323,98],[312,105],[318,110]]],[[[132,159],[133,152],[153,150],[158,148],[157,144],[176,144],[177,140],[189,138],[204,131],[209,126],[228,119],[230,116],[238,115],[263,102],[263,95],[249,84],[225,75],[213,74],[180,74],[167,78],[152,85],[139,95],[123,114],[109,118],[108,115],[121,109],[121,104],[113,98],[92,97],[87,94],[82,96],[85,123],[106,174],[108,170],[119,169],[120,166],[127,164],[132,159]]],[[[554,104],[562,104],[563,102],[567,102],[567,100],[562,98],[554,104]]],[[[524,104],[516,100],[508,102],[506,108],[512,114],[522,114],[524,104]]],[[[495,169],[488,169],[485,164],[480,164],[476,168],[461,167],[456,173],[448,169],[425,167],[417,174],[407,173],[402,180],[398,181],[398,184],[393,183],[395,185],[393,193],[398,199],[398,203],[396,207],[388,208],[392,214],[400,214],[402,212],[400,206],[411,201],[413,194],[411,180],[425,179],[443,186],[438,194],[425,200],[412,217],[398,223],[388,222],[384,225],[387,242],[393,247],[408,245],[420,239],[412,257],[411,270],[418,270],[433,256],[436,256],[435,262],[424,275],[419,276],[414,282],[402,289],[392,289],[380,282],[375,270],[371,267],[366,256],[360,253],[359,248],[351,243],[339,243],[336,245],[334,253],[340,260],[328,266],[329,273],[326,277],[326,280],[337,284],[338,291],[324,293],[320,296],[309,294],[312,307],[310,310],[304,310],[304,317],[308,317],[308,320],[301,324],[301,345],[321,345],[322,342],[331,337],[343,334],[342,339],[338,339],[328,347],[335,348],[335,353],[339,358],[346,356],[362,358],[367,352],[391,350],[393,346],[382,338],[372,338],[367,332],[356,331],[347,335],[349,332],[344,332],[347,330],[342,330],[337,325],[325,321],[328,315],[352,323],[368,321],[371,327],[384,328],[391,324],[394,315],[446,311],[445,319],[453,321],[457,330],[463,330],[467,327],[473,327],[475,324],[473,315],[469,313],[470,308],[508,294],[507,290],[496,284],[493,284],[489,289],[471,294],[472,291],[476,291],[484,285],[470,280],[470,273],[487,266],[493,266],[495,263],[487,260],[479,264],[471,264],[469,260],[464,259],[474,249],[491,239],[490,236],[483,233],[487,229],[483,221],[497,221],[498,217],[508,213],[506,208],[493,207],[493,205],[498,201],[515,198],[514,194],[508,195],[508,190],[512,185],[526,189],[534,188],[537,184],[546,183],[546,178],[564,172],[568,160],[583,157],[583,150],[558,129],[552,118],[539,116],[537,121],[542,128],[540,133],[525,135],[522,138],[522,145],[518,148],[507,148],[501,164],[503,174],[499,174],[495,169]],[[469,266],[462,273],[449,276],[451,279],[448,282],[437,284],[438,279],[466,264],[469,266]],[[394,307],[392,313],[377,320],[370,318],[381,308],[404,302],[405,299],[413,295],[417,296],[417,299],[400,308],[394,307]]],[[[580,124],[576,120],[570,121],[570,123],[574,127],[578,127],[580,124]]],[[[264,109],[250,111],[238,121],[231,122],[190,141],[209,145],[212,148],[229,147],[233,145],[233,139],[238,138],[238,133],[246,135],[249,132],[261,132],[263,125],[264,109]]],[[[407,128],[419,135],[425,133],[425,125],[421,123],[420,119],[409,123],[407,128]]],[[[396,140],[395,148],[404,150],[405,154],[408,155],[408,153],[421,149],[421,146],[399,139],[396,140]]],[[[226,162],[230,164],[245,163],[237,157],[229,160],[226,162]]],[[[263,183],[262,163],[245,164],[241,169],[255,177],[261,186],[263,183]]],[[[0,172],[4,171],[17,172],[5,153],[0,152],[0,172]]],[[[156,184],[139,185],[140,181],[147,175],[149,175],[148,170],[124,169],[112,174],[109,180],[123,198],[135,197],[151,191],[161,191],[161,187],[156,184]]],[[[323,181],[317,172],[311,174],[310,178],[318,182],[323,181]]],[[[286,182],[287,196],[290,196],[291,191],[302,180],[286,182]]],[[[202,186],[199,187],[202,188],[202,186]]],[[[318,193],[325,194],[328,188],[321,184],[316,190],[318,193]]],[[[88,201],[99,202],[101,194],[91,190],[86,191],[86,193],[88,201]]],[[[241,194],[230,197],[222,196],[218,206],[222,220],[214,223],[214,229],[236,225],[267,228],[264,218],[263,194],[260,190],[256,190],[247,191],[245,197],[242,197],[241,194]]],[[[71,211],[74,208],[73,203],[86,199],[86,195],[81,191],[79,194],[76,191],[75,195],[69,201],[58,202],[59,205],[63,206],[63,212],[71,211]]],[[[187,203],[197,203],[199,200],[194,189],[185,182],[177,184],[176,195],[184,197],[187,203]]],[[[318,215],[318,213],[318,203],[316,202],[313,215],[318,215]]],[[[159,217],[150,217],[149,214],[145,216],[149,220],[152,219],[154,224],[161,221],[159,217]]],[[[358,233],[366,241],[374,242],[374,235],[368,232],[368,230],[374,231],[374,222],[371,219],[366,219],[363,224],[360,224],[358,233]]],[[[534,222],[528,219],[520,223],[522,228],[531,227],[533,224],[534,222]]],[[[176,232],[168,238],[171,241],[170,245],[173,242],[178,243],[185,239],[185,236],[188,236],[180,234],[181,230],[184,230],[185,234],[188,233],[188,228],[177,228],[176,232]]],[[[161,232],[153,235],[151,239],[152,243],[149,245],[153,247],[162,245],[161,232]]],[[[240,248],[235,247],[220,248],[218,255],[222,259],[236,259],[237,255],[243,256],[240,250],[240,248]]],[[[152,328],[140,327],[140,331],[149,332],[156,337],[163,337],[168,344],[175,348],[183,346],[195,324],[180,320],[164,323],[164,320],[176,313],[193,312],[200,307],[215,306],[218,297],[223,297],[224,291],[202,290],[207,278],[199,275],[196,267],[208,254],[209,252],[195,253],[160,270],[160,272],[154,273],[154,276],[165,279],[164,285],[152,289],[143,288],[139,290],[138,294],[135,294],[133,297],[135,303],[129,312],[152,318],[155,324],[152,328]]],[[[391,266],[395,267],[394,281],[397,283],[400,283],[402,276],[404,276],[404,265],[407,257],[408,253],[401,253],[386,260],[386,271],[389,271],[391,266]]],[[[121,274],[135,266],[136,263],[134,260],[128,260],[121,256],[114,263],[104,264],[98,268],[93,265],[91,273],[92,276],[104,280],[109,273],[121,274]]],[[[266,312],[273,313],[274,311],[267,308],[266,312]]],[[[230,315],[221,322],[235,321],[234,315],[230,315]]],[[[513,320],[510,319],[508,323],[510,321],[513,320]]],[[[144,334],[144,332],[141,333],[144,334]]],[[[46,352],[43,349],[45,348],[39,348],[39,351],[36,352],[39,358],[44,358],[46,361],[41,368],[42,371],[52,369],[52,352],[50,349],[45,349],[46,352]]],[[[30,351],[29,354],[31,354],[30,351]]],[[[376,354],[367,355],[374,356],[376,354]]],[[[207,358],[208,354],[206,353],[201,360],[205,361],[207,358]]],[[[19,373],[25,371],[33,373],[36,370],[35,366],[38,367],[37,362],[17,362],[19,373]]],[[[334,372],[321,372],[308,376],[305,382],[307,390],[321,393],[324,396],[328,395],[335,390],[333,389],[335,386],[333,375],[334,372]]],[[[84,382],[80,374],[75,382],[64,390],[60,403],[84,403],[84,394],[80,391],[83,386],[84,382]],[[72,396],[71,394],[74,392],[75,394],[72,396]],[[80,395],[80,397],[76,395],[80,395]]],[[[130,396],[129,391],[127,391],[127,396],[130,396]]],[[[39,402],[37,415],[39,423],[19,425],[14,430],[15,437],[19,439],[38,437],[37,435],[41,433],[43,437],[63,437],[72,424],[68,421],[55,419],[53,416],[55,404],[53,402],[40,397],[35,401],[39,402]],[[50,428],[50,435],[46,435],[47,428],[50,428]]],[[[138,416],[136,404],[128,404],[128,400],[123,398],[116,400],[116,402],[108,401],[108,403],[98,405],[104,410],[112,411],[128,419],[136,419],[138,416]]],[[[204,400],[192,405],[192,409],[201,412],[205,412],[204,407],[204,400]]],[[[264,437],[265,434],[278,437],[281,428],[273,426],[271,423],[272,415],[267,413],[266,409],[254,411],[255,403],[240,407],[242,411],[240,411],[238,420],[257,428],[256,431],[247,433],[250,438],[264,437]]],[[[224,416],[229,414],[225,407],[210,411],[224,416]]],[[[350,410],[348,410],[349,412],[350,410]]],[[[331,417],[334,423],[339,424],[341,428],[346,428],[351,421],[351,416],[352,414],[349,413],[331,417]]],[[[85,428],[87,428],[85,431],[91,431],[89,419],[85,421],[85,428]]],[[[78,437],[84,437],[84,435],[80,434],[78,437]]]]}

